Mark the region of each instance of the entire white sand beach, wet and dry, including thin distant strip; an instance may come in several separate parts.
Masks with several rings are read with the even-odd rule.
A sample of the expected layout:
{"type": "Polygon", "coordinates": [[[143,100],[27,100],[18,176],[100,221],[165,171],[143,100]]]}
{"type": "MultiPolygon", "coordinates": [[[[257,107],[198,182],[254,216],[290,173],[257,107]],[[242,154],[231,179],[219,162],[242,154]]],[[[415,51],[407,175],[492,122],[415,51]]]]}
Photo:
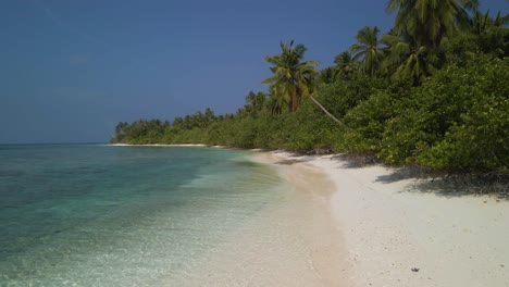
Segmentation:
{"type": "Polygon", "coordinates": [[[287,182],[285,204],[208,254],[188,286],[509,286],[508,200],[336,155],[253,151],[287,182]]]}

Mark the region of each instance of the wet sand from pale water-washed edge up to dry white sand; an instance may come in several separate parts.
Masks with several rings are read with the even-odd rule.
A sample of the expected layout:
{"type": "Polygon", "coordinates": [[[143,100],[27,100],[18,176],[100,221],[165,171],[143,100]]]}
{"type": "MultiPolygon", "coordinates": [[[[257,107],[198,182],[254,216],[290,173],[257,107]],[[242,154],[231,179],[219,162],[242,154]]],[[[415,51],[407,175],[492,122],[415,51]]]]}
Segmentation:
{"type": "Polygon", "coordinates": [[[282,204],[264,209],[212,252],[186,286],[350,286],[333,220],[333,183],[315,166],[259,153],[285,179],[282,204]]]}

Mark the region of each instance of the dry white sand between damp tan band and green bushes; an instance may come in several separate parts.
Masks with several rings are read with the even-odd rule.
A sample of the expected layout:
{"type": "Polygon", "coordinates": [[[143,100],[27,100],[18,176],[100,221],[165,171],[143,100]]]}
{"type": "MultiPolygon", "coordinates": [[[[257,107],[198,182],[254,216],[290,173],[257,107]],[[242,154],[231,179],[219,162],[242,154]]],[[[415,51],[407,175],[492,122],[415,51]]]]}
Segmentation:
{"type": "MultiPolygon", "coordinates": [[[[335,269],[353,286],[509,286],[508,201],[423,191],[422,179],[332,155],[272,155],[319,167],[334,183],[330,204],[347,250],[335,269]]],[[[316,179],[294,180],[305,182],[316,179]]]]}

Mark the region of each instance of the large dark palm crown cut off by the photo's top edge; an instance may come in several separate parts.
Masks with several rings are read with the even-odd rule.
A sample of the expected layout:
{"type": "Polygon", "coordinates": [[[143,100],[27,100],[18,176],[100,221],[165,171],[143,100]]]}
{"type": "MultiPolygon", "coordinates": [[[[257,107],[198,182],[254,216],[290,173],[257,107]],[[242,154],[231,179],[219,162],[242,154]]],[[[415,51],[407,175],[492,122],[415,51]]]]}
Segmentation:
{"type": "Polygon", "coordinates": [[[387,11],[398,11],[394,29],[414,38],[429,50],[438,49],[444,37],[468,25],[467,10],[474,11],[479,0],[389,0],[387,11]]]}

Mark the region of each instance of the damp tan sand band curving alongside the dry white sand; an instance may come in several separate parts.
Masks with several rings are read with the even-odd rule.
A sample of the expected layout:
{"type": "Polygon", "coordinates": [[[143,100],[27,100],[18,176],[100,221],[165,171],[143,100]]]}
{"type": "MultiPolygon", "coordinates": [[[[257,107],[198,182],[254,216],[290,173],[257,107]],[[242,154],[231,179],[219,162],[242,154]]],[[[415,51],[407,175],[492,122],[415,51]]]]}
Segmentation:
{"type": "Polygon", "coordinates": [[[289,154],[254,151],[258,151],[253,155],[257,162],[274,166],[295,189],[294,196],[302,197],[296,216],[302,213],[308,220],[297,228],[300,229],[300,236],[307,238],[308,263],[315,280],[302,284],[299,278],[297,285],[278,286],[355,286],[345,239],[340,225],[334,221],[334,209],[330,204],[336,192],[334,182],[319,166],[296,162],[289,154]]]}

